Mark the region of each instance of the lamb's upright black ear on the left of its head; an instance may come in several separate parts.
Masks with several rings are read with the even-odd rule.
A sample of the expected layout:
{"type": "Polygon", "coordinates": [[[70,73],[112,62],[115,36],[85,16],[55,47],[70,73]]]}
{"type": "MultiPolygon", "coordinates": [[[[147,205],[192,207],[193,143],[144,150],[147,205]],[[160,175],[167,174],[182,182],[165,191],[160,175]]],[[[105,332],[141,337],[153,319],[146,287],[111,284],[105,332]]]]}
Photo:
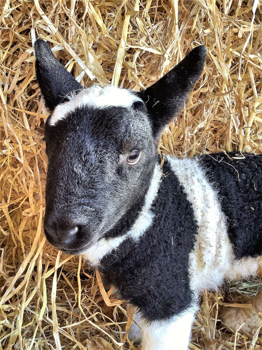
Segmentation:
{"type": "Polygon", "coordinates": [[[36,56],[36,77],[46,106],[53,110],[59,103],[68,100],[66,96],[83,89],[74,77],[54,57],[48,44],[37,39],[34,44],[36,56]]]}

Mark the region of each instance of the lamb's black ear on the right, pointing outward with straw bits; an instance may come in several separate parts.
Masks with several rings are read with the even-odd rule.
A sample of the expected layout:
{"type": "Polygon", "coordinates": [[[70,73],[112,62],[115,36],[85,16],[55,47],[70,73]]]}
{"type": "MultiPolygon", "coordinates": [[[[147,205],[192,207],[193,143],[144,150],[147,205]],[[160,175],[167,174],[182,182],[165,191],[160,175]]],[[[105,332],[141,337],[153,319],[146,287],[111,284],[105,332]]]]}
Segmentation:
{"type": "Polygon", "coordinates": [[[138,94],[150,113],[155,134],[158,134],[182,109],[199,79],[205,63],[204,45],[194,48],[165,76],[138,94]]]}

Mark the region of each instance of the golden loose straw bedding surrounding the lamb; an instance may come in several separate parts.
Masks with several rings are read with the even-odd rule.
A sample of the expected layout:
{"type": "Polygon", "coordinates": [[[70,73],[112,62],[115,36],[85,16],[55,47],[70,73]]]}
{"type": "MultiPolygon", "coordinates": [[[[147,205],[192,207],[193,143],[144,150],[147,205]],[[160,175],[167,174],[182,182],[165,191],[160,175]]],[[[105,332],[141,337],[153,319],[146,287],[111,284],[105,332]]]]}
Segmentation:
{"type": "MultiPolygon", "coordinates": [[[[203,76],[160,151],[262,153],[261,12],[258,0],[0,1],[0,349],[137,348],[125,334],[133,310],[81,257],[57,252],[43,236],[48,111],[32,42],[47,40],[85,86],[135,90],[204,43],[203,76]]],[[[261,289],[260,277],[228,288],[229,301],[223,290],[204,294],[190,349],[262,349],[259,329],[242,336],[219,319],[223,302],[261,289]]]]}

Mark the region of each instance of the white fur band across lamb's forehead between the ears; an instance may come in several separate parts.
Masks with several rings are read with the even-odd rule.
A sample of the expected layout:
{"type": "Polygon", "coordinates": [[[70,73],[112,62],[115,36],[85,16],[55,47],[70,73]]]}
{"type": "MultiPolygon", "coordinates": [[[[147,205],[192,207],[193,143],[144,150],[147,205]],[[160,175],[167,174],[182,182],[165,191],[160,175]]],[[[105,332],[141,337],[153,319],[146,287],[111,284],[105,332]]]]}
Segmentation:
{"type": "Polygon", "coordinates": [[[93,85],[81,90],[77,95],[73,93],[69,98],[70,101],[56,106],[49,120],[50,125],[55,125],[59,120],[66,118],[68,113],[74,112],[79,107],[89,105],[101,108],[106,106],[130,108],[134,102],[142,102],[134,92],[111,85],[105,87],[93,85]]]}

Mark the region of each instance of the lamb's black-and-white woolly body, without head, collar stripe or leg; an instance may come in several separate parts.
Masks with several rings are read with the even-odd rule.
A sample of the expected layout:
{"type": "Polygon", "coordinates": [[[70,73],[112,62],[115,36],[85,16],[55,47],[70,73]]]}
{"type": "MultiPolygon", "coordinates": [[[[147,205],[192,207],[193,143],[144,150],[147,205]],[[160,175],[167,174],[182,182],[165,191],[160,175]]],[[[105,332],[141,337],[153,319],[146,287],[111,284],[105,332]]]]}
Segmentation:
{"type": "Polygon", "coordinates": [[[247,155],[244,162],[232,158],[228,163],[224,157],[167,157],[151,207],[152,226],[139,241],[127,238],[101,259],[105,282],[137,306],[145,320],[181,315],[203,288],[217,288],[224,278],[257,269],[252,257],[262,249],[262,196],[255,184],[262,179],[262,158],[253,162],[247,155]],[[256,208],[252,216],[251,206],[256,208]]]}

